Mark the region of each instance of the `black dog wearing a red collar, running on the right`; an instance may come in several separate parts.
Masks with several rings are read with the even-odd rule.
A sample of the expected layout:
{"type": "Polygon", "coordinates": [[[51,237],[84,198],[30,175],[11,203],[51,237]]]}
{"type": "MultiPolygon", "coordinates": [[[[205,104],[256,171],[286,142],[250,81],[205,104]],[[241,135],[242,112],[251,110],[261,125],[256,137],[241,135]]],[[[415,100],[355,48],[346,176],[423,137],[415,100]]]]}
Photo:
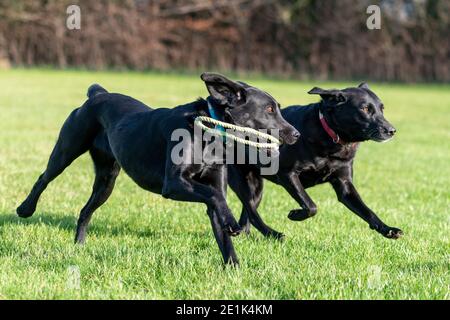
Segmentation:
{"type": "MultiPolygon", "coordinates": [[[[265,176],[282,185],[301,206],[292,210],[289,218],[302,221],[314,216],[317,207],[305,189],[329,182],[339,201],[370,228],[387,238],[399,238],[402,231],[381,221],[364,204],[352,183],[353,158],[359,142],[386,141],[395,134],[395,128],[383,116],[382,102],[365,83],[344,90],[314,88],[309,93],[320,95],[322,101],[282,110],[283,117],[302,133],[302,139],[283,146],[278,173],[265,176]]],[[[263,191],[259,170],[249,165],[229,167],[229,184],[243,204],[240,225],[249,232],[251,223],[265,236],[282,238],[257,212],[263,191]]]]}

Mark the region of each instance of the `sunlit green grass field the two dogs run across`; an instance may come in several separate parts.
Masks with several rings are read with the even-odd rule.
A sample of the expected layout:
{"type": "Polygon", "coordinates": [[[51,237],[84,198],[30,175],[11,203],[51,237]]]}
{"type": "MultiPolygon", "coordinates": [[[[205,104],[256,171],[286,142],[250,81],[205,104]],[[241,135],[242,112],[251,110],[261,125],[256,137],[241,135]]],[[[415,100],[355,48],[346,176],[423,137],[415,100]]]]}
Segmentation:
{"type": "MultiPolygon", "coordinates": [[[[246,80],[282,105],[317,99],[306,92],[318,83],[246,80]]],[[[75,246],[76,219],[93,182],[87,155],[50,184],[33,218],[15,215],[63,121],[94,82],[152,106],[206,96],[197,76],[0,71],[0,299],[450,298],[450,85],[372,85],[398,134],[361,146],[355,182],[366,203],[405,232],[402,239],[371,231],[328,185],[309,190],[318,215],[291,222],[296,203],[267,183],[260,211],[286,240],[256,232],[235,238],[235,270],[223,267],[202,205],[147,193],[124,173],[94,215],[87,244],[75,246]]],[[[229,204],[239,215],[231,193],[229,204]]]]}

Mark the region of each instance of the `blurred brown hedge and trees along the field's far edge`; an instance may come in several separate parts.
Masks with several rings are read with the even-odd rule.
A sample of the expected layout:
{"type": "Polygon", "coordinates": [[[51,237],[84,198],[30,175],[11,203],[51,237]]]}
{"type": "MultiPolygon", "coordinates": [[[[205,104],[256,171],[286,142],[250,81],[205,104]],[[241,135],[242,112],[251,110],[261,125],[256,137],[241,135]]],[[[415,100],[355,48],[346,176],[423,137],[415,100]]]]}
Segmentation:
{"type": "Polygon", "coordinates": [[[449,81],[449,31],[449,0],[0,0],[0,66],[449,81]]]}

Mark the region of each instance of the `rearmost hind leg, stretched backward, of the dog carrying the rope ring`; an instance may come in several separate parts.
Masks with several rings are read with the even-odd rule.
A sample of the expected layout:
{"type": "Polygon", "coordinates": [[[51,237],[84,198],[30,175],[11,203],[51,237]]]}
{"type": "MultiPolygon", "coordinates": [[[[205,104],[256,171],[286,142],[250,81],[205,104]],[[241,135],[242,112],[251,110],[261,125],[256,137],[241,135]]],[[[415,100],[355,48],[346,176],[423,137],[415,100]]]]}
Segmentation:
{"type": "Polygon", "coordinates": [[[20,217],[31,217],[36,210],[39,197],[47,185],[89,149],[92,143],[90,137],[95,128],[93,125],[89,126],[90,121],[78,119],[80,112],[82,112],[81,108],[74,110],[61,128],[46,170],[39,176],[25,201],[17,208],[17,214],[20,217]]]}

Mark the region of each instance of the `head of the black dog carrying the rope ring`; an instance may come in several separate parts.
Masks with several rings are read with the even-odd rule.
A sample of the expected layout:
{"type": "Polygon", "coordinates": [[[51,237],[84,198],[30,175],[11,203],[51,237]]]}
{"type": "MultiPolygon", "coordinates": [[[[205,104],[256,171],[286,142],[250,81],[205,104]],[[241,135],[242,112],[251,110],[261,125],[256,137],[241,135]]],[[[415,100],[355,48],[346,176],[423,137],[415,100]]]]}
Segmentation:
{"type": "Polygon", "coordinates": [[[256,130],[277,129],[280,138],[294,144],[300,133],[281,116],[280,104],[268,93],[223,75],[205,72],[201,75],[214,105],[222,108],[227,122],[256,130]]]}

